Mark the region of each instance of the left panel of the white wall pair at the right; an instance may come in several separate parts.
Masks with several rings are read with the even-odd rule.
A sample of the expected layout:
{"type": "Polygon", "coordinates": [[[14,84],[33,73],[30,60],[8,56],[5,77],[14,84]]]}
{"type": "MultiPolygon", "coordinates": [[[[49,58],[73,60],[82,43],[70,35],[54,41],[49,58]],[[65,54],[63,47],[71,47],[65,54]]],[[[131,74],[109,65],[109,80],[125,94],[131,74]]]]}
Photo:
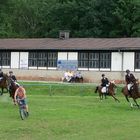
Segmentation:
{"type": "Polygon", "coordinates": [[[122,70],[122,52],[112,52],[111,55],[111,71],[122,70]]]}

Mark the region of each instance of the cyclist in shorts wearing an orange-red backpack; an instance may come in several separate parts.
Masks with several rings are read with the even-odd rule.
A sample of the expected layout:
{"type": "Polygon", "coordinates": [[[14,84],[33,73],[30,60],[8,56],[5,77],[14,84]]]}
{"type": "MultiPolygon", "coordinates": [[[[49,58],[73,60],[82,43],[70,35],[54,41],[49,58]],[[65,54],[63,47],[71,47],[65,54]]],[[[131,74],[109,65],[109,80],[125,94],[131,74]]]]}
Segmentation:
{"type": "Polygon", "coordinates": [[[29,115],[25,88],[23,88],[23,86],[21,86],[19,84],[17,84],[17,87],[18,88],[15,91],[14,100],[15,100],[15,102],[18,102],[18,100],[20,100],[23,103],[23,105],[25,105],[27,115],[29,115]]]}

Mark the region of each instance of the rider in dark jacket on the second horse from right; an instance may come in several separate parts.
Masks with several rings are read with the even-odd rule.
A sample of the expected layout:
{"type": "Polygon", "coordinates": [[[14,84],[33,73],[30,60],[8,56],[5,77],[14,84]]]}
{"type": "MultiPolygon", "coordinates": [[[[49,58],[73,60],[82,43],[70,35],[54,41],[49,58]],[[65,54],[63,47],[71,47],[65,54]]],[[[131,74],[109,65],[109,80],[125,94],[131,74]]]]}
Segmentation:
{"type": "Polygon", "coordinates": [[[105,90],[104,92],[107,94],[108,93],[109,80],[108,80],[108,78],[105,77],[105,74],[102,74],[101,86],[102,86],[102,89],[105,90]]]}

